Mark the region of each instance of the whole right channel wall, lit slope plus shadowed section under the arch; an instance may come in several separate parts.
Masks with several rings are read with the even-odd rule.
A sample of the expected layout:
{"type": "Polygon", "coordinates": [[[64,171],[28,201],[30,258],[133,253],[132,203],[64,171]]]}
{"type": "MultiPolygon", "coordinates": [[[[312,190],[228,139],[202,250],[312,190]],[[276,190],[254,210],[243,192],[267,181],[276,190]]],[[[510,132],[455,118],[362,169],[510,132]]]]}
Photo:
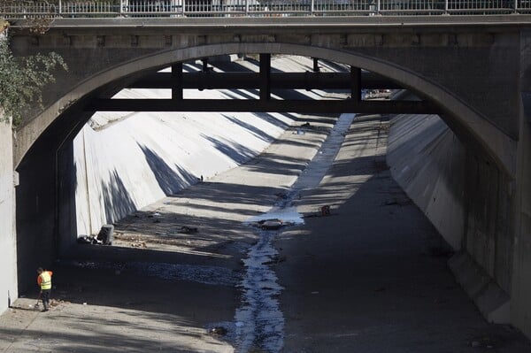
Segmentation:
{"type": "Polygon", "coordinates": [[[390,124],[391,173],[456,250],[456,280],[489,322],[512,322],[510,180],[438,116],[399,115],[390,124]]]}

